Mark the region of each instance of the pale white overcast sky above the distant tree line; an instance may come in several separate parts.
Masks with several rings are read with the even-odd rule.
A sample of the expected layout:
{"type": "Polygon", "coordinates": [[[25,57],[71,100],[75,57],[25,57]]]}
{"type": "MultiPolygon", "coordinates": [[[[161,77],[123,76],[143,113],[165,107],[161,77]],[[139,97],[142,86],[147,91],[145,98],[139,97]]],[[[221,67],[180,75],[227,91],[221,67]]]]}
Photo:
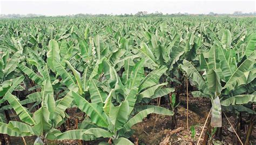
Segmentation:
{"type": "Polygon", "coordinates": [[[254,12],[256,1],[166,1],[166,0],[112,0],[112,1],[6,1],[0,0],[0,14],[43,14],[57,16],[77,13],[233,13],[234,11],[254,12]]]}

